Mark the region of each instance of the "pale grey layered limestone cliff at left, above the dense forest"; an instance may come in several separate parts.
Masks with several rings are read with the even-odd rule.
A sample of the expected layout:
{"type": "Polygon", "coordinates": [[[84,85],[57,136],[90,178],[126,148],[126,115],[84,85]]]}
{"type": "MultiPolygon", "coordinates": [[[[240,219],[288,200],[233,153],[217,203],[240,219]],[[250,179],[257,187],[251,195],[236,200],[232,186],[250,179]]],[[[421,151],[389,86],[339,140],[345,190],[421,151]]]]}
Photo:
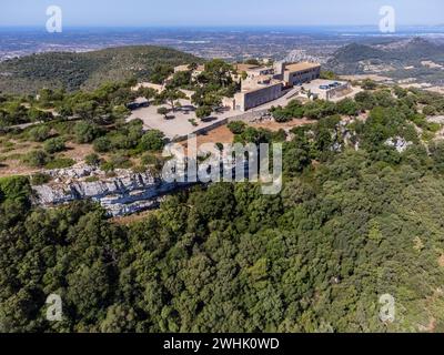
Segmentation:
{"type": "Polygon", "coordinates": [[[52,180],[48,184],[33,186],[34,204],[56,206],[79,200],[99,202],[111,216],[128,215],[157,207],[162,197],[184,183],[165,183],[149,171],[133,173],[117,170],[115,176],[93,166],[48,171],[52,180]]]}

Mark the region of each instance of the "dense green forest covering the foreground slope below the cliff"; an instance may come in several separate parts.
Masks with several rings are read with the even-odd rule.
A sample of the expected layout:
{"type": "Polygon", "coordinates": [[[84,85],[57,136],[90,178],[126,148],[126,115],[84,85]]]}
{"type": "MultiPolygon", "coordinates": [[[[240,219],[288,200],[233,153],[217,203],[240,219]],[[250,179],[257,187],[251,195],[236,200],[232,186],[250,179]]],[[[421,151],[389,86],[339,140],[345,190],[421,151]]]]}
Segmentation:
{"type": "MultiPolygon", "coordinates": [[[[444,144],[418,112],[442,100],[394,91],[275,108],[281,121],[313,120],[284,142],[275,196],[199,186],[124,226],[89,202],[31,207],[26,178],[0,180],[0,331],[443,332],[444,144]],[[363,110],[349,128],[356,151],[339,114],[363,110]],[[411,145],[398,152],[393,136],[411,145]],[[50,294],[62,322],[46,320],[50,294]],[[379,318],[383,294],[396,301],[393,323],[379,318]]],[[[285,141],[230,129],[236,141],[285,141]]]]}

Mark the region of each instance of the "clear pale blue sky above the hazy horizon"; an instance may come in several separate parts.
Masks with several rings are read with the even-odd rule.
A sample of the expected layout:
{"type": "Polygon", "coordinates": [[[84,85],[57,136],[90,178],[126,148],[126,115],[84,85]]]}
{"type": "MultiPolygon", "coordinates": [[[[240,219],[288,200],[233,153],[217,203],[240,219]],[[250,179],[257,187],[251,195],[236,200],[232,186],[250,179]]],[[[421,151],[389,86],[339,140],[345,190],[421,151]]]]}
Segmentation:
{"type": "Polygon", "coordinates": [[[51,4],[64,26],[377,26],[386,4],[398,24],[444,24],[443,0],[0,0],[0,27],[44,27],[51,4]]]}

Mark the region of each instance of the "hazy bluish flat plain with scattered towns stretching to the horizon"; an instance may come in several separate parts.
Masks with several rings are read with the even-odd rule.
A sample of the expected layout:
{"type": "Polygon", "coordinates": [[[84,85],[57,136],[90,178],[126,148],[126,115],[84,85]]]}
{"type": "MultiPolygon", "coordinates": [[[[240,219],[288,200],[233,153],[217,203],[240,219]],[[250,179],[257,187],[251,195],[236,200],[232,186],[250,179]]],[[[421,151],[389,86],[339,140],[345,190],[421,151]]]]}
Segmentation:
{"type": "Polygon", "coordinates": [[[40,28],[0,28],[0,61],[53,51],[84,52],[109,47],[155,44],[178,49],[201,58],[231,62],[249,58],[324,63],[339,48],[352,42],[386,43],[423,36],[443,42],[443,27],[400,28],[384,36],[372,27],[294,28],[67,28],[47,33],[40,28]]]}

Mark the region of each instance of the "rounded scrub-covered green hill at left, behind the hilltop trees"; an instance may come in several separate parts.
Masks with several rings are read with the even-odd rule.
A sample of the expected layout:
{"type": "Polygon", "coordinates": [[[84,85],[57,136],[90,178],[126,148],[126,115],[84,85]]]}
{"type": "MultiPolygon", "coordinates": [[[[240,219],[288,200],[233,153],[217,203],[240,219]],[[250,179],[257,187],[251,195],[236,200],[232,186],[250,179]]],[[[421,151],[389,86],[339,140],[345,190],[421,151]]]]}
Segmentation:
{"type": "Polygon", "coordinates": [[[169,48],[120,47],[85,53],[49,52],[0,63],[0,91],[34,93],[42,88],[94,89],[107,81],[147,80],[157,64],[179,65],[201,59],[169,48]]]}

